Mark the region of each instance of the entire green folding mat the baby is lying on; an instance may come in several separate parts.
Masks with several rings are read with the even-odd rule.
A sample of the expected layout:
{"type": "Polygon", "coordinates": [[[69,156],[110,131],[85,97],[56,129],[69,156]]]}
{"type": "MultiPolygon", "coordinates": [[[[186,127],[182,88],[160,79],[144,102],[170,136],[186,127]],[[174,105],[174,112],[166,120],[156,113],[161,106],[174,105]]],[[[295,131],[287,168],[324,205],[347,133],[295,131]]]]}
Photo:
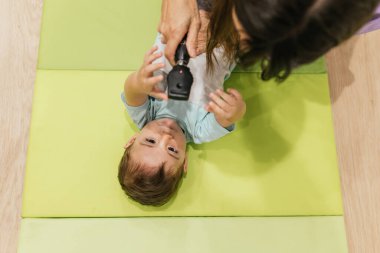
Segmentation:
{"type": "Polygon", "coordinates": [[[117,165],[137,129],[120,93],[153,44],[160,4],[44,1],[19,253],[347,252],[323,59],[280,85],[235,70],[225,86],[247,102],[237,130],[189,145],[163,207],[125,196],[117,165]]]}

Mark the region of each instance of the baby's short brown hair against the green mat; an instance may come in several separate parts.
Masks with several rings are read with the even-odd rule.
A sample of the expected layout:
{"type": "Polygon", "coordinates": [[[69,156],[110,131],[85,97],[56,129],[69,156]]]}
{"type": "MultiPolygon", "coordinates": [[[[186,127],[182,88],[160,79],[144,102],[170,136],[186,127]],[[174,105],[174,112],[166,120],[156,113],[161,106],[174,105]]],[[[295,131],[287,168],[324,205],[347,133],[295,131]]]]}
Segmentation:
{"type": "Polygon", "coordinates": [[[144,164],[131,158],[132,146],[125,149],[119,164],[118,179],[124,192],[143,205],[161,206],[173,196],[182,178],[183,169],[174,173],[166,172],[163,165],[150,168],[154,173],[146,173],[144,164]]]}

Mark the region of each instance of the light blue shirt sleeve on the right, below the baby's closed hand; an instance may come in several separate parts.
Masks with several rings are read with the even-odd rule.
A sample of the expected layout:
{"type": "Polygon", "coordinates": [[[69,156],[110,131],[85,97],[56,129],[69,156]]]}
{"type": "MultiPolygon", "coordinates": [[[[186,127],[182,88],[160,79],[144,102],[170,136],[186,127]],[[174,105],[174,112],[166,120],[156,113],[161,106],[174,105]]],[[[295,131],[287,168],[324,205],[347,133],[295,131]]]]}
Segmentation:
{"type": "Polygon", "coordinates": [[[193,141],[196,144],[211,142],[222,138],[233,130],[235,130],[235,124],[224,128],[216,121],[213,113],[207,113],[206,116],[196,124],[193,141]]]}

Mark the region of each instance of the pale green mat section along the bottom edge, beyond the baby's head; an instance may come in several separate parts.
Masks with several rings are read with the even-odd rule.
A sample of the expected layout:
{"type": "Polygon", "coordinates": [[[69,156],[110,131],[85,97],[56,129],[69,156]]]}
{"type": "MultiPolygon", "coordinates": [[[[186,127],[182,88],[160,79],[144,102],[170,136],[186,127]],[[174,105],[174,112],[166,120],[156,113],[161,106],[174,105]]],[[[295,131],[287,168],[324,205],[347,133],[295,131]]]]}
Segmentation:
{"type": "Polygon", "coordinates": [[[24,219],[18,253],[347,253],[342,217],[24,219]]]}

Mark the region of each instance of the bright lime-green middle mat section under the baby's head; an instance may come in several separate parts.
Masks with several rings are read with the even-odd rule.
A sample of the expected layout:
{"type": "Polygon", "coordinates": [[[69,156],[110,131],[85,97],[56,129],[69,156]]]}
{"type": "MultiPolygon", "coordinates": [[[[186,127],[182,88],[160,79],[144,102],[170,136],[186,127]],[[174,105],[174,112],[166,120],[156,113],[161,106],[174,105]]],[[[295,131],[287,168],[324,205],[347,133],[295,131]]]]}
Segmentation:
{"type": "Polygon", "coordinates": [[[23,217],[341,215],[326,74],[285,83],[234,73],[247,102],[237,130],[190,145],[189,168],[163,207],[127,198],[117,180],[136,131],[120,100],[130,72],[39,70],[23,217]]]}

